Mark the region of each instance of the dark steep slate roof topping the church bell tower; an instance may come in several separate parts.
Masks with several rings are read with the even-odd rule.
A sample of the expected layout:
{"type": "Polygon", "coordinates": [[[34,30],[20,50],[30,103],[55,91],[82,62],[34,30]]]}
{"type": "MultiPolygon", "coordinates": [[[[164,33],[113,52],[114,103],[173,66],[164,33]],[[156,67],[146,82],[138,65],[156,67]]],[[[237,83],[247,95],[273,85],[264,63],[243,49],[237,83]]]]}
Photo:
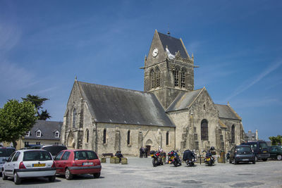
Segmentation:
{"type": "Polygon", "coordinates": [[[164,35],[161,32],[158,32],[158,34],[159,39],[161,39],[161,44],[163,44],[164,51],[166,51],[166,46],[168,46],[168,50],[171,52],[171,54],[176,55],[176,52],[179,51],[181,57],[188,58],[185,47],[180,39],[176,39],[169,35],[164,35]]]}

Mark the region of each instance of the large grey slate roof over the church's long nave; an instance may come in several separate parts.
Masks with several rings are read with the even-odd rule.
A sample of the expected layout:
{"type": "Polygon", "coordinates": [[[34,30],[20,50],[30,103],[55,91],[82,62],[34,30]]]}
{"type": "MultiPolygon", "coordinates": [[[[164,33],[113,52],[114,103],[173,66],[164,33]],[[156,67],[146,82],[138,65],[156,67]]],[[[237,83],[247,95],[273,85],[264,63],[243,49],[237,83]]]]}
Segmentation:
{"type": "Polygon", "coordinates": [[[96,122],[175,127],[154,94],[78,82],[96,122]]]}

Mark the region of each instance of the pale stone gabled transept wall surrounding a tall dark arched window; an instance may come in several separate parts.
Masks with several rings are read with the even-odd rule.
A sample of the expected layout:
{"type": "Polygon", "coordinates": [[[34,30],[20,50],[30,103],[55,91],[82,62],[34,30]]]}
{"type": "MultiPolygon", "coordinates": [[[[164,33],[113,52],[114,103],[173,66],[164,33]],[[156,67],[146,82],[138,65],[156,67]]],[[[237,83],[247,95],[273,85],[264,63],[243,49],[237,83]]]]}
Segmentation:
{"type": "Polygon", "coordinates": [[[176,149],[206,150],[210,146],[219,147],[216,143],[216,131],[219,130],[218,111],[206,89],[200,92],[190,108],[169,112],[168,115],[176,124],[176,149]],[[208,122],[209,140],[201,140],[201,122],[208,122]]]}

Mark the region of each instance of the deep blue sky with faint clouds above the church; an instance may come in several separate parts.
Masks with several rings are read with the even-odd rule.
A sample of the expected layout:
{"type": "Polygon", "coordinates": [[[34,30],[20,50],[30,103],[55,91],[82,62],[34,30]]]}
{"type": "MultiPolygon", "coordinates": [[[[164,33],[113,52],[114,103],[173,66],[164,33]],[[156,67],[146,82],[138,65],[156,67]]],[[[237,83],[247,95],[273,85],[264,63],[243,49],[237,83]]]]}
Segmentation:
{"type": "Polygon", "coordinates": [[[154,30],[195,56],[195,89],[231,106],[245,132],[282,134],[282,1],[0,0],[0,106],[47,97],[63,120],[75,76],[143,90],[154,30]]]}

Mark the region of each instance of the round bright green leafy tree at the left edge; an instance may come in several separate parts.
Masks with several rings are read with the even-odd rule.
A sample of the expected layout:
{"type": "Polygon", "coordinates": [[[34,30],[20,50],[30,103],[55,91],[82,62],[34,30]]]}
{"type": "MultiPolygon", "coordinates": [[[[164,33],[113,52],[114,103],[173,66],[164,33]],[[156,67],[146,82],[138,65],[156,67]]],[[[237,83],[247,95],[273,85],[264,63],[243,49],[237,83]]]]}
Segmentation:
{"type": "Polygon", "coordinates": [[[30,101],[9,100],[0,108],[0,142],[16,141],[29,131],[37,120],[35,105],[30,101]]]}

